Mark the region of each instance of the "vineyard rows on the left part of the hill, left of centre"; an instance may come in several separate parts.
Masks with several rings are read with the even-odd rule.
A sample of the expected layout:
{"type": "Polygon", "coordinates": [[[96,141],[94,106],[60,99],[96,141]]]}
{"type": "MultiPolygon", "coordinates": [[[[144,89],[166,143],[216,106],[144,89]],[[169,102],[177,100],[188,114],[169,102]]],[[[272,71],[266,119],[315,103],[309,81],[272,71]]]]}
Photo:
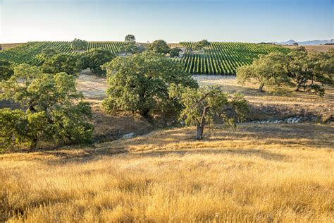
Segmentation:
{"type": "MultiPolygon", "coordinates": [[[[109,49],[114,54],[118,53],[118,49],[123,45],[123,42],[88,42],[88,49],[104,48],[109,49]]],[[[0,52],[0,59],[10,61],[14,64],[30,64],[38,66],[43,63],[43,49],[53,48],[59,52],[75,55],[79,52],[73,51],[70,47],[70,42],[27,42],[18,47],[0,52]]]]}

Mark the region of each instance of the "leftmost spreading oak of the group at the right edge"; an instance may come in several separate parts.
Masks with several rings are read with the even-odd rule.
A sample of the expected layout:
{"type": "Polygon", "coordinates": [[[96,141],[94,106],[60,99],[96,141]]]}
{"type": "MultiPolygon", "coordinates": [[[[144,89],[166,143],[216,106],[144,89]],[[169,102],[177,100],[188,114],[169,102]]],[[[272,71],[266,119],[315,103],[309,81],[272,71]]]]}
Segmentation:
{"type": "Polygon", "coordinates": [[[287,82],[284,64],[284,54],[261,55],[259,59],[254,60],[253,64],[237,68],[237,80],[242,84],[249,80],[256,80],[259,83],[260,92],[264,85],[277,90],[282,83],[287,82]]]}

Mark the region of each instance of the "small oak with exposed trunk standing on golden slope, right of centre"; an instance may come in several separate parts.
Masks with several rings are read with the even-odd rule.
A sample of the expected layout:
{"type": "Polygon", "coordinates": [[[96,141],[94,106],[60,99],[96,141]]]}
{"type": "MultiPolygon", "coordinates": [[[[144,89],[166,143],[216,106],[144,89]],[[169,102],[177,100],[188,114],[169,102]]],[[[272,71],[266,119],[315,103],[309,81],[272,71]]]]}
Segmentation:
{"type": "Polygon", "coordinates": [[[197,127],[197,140],[202,140],[204,126],[214,123],[215,117],[221,119],[226,128],[234,128],[235,121],[244,120],[249,111],[247,100],[242,95],[228,95],[218,87],[185,88],[179,97],[183,105],[180,119],[197,127]]]}

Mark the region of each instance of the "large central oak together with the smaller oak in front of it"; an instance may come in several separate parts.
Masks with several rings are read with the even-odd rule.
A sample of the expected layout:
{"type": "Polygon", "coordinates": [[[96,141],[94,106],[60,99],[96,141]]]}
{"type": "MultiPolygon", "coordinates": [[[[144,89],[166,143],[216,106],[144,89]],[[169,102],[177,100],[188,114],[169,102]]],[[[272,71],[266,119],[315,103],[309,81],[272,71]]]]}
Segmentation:
{"type": "Polygon", "coordinates": [[[149,51],[118,57],[105,67],[109,88],[102,104],[106,111],[132,111],[150,121],[156,115],[173,114],[175,119],[196,125],[199,140],[205,124],[213,123],[214,118],[233,127],[248,111],[242,95],[228,95],[218,87],[199,88],[181,64],[162,54],[149,51]]]}

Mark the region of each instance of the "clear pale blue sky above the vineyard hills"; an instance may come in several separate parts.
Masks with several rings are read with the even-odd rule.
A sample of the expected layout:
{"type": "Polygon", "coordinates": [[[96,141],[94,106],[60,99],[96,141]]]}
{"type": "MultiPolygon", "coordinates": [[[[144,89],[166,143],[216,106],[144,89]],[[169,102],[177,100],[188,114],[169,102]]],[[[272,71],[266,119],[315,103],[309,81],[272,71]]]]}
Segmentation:
{"type": "Polygon", "coordinates": [[[334,0],[0,0],[0,42],[334,38],[334,0]]]}

